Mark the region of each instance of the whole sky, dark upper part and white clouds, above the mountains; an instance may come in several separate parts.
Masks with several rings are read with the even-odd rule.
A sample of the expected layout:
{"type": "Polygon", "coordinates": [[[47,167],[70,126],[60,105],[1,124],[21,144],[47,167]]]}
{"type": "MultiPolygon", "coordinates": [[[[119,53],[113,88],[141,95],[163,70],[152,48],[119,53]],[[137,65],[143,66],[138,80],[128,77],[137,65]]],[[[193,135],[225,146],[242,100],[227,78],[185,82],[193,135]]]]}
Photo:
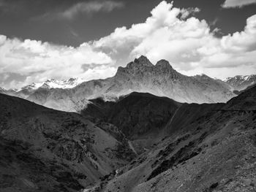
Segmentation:
{"type": "Polygon", "coordinates": [[[256,0],[0,0],[0,87],[111,77],[140,55],[224,79],[256,72],[256,0]]]}

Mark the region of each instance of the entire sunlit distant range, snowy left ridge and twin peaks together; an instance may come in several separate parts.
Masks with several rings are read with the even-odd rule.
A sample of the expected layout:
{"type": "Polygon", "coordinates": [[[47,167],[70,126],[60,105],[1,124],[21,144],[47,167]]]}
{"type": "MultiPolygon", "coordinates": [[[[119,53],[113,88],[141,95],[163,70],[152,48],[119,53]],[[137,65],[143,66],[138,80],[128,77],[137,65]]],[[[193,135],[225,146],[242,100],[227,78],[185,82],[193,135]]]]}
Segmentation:
{"type": "Polygon", "coordinates": [[[167,96],[187,103],[225,102],[235,96],[225,82],[206,75],[189,77],[178,73],[168,61],[161,60],[153,65],[145,56],[136,58],[126,67],[118,67],[114,77],[80,84],[78,82],[49,80],[26,86],[16,96],[56,110],[71,112],[86,107],[88,99],[104,97],[106,100],[116,100],[134,91],[167,96]]]}

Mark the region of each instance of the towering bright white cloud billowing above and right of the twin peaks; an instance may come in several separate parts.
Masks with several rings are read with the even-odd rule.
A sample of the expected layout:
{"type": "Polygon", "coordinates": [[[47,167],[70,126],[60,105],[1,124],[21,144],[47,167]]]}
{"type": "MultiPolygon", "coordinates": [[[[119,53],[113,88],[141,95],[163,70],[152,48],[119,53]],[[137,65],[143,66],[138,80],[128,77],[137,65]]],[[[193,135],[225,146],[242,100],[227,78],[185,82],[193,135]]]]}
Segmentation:
{"type": "Polygon", "coordinates": [[[247,19],[244,31],[219,39],[206,20],[191,15],[191,9],[178,9],[162,1],[144,23],[116,28],[108,37],[94,42],[94,47],[112,58],[129,55],[131,60],[143,54],[154,63],[165,58],[186,74],[211,69],[215,77],[224,77],[219,72],[225,67],[252,69],[255,65],[255,22],[256,15],[247,19]]]}

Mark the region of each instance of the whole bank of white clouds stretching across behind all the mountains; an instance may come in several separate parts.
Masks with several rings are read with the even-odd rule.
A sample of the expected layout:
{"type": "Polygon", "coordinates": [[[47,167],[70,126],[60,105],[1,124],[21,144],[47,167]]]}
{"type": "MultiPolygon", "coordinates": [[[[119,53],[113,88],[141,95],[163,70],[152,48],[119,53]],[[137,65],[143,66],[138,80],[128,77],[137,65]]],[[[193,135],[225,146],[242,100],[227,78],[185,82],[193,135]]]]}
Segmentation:
{"type": "Polygon", "coordinates": [[[189,75],[224,78],[255,72],[256,15],[246,20],[243,31],[217,38],[206,20],[195,17],[197,11],[162,1],[145,22],[116,28],[79,47],[0,36],[0,74],[20,74],[26,77],[23,84],[51,77],[104,78],[139,55],[153,63],[165,58],[189,75]]]}

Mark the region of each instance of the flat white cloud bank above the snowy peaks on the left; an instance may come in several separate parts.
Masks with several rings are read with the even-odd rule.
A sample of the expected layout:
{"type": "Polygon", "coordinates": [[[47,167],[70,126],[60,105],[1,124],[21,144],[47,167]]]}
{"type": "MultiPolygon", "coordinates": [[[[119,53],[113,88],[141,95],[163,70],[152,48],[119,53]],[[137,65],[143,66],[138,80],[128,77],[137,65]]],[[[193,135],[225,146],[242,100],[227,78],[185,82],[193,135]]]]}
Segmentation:
{"type": "Polygon", "coordinates": [[[66,79],[84,77],[87,80],[113,74],[113,60],[100,51],[94,51],[89,43],[79,47],[52,45],[31,39],[8,39],[0,35],[0,74],[16,73],[26,77],[22,85],[39,82],[50,77],[66,79]],[[96,64],[94,70],[83,65],[96,64]],[[108,64],[109,67],[101,65],[108,64]],[[98,72],[95,72],[95,70],[98,72]]]}

